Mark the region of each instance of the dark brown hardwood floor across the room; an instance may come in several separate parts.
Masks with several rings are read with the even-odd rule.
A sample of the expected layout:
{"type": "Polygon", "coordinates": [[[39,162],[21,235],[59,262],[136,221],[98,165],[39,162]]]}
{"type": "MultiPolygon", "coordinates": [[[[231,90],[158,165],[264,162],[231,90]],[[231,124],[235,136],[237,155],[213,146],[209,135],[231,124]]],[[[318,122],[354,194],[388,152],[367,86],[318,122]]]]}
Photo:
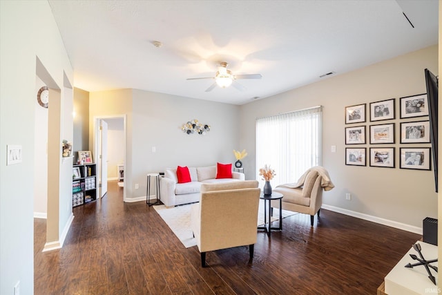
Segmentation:
{"type": "Polygon", "coordinates": [[[64,247],[41,252],[46,220],[35,219],[35,294],[376,294],[421,236],[322,209],[285,218],[271,237],[209,252],[184,248],[153,207],[124,203],[108,183],[101,201],[74,208],[64,247]]]}

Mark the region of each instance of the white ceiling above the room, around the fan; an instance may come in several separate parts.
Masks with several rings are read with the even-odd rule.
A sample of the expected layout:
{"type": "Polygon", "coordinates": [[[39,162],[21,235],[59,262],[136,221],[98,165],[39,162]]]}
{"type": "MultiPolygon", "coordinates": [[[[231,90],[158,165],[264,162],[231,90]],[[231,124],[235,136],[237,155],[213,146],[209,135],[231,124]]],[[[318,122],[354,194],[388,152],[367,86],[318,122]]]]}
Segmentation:
{"type": "Polygon", "coordinates": [[[74,86],[85,91],[136,88],[245,104],[438,43],[437,0],[49,3],[74,86]],[[212,79],[186,80],[213,77],[220,61],[262,79],[238,80],[244,91],[211,92],[212,79]]]}

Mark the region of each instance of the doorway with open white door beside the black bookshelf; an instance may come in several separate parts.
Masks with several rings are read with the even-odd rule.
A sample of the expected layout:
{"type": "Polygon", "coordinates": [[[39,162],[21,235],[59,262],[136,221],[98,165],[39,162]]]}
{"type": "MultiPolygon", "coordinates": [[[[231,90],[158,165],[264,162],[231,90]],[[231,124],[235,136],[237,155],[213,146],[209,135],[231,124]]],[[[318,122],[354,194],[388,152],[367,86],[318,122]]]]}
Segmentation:
{"type": "MultiPolygon", "coordinates": [[[[106,195],[107,181],[118,178],[126,167],[126,115],[94,117],[93,150],[97,155],[99,197],[106,195]],[[107,131],[106,131],[107,130],[107,131]]],[[[126,180],[123,180],[123,201],[126,201],[126,180]]]]}

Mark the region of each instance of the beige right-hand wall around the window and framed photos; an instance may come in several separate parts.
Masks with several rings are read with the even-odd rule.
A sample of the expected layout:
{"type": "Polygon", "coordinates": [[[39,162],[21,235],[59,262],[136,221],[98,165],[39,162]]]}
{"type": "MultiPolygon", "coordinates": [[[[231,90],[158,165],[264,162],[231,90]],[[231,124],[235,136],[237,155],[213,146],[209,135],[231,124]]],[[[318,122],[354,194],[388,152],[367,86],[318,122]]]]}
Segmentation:
{"type": "MultiPolygon", "coordinates": [[[[323,108],[323,166],[329,171],[336,185],[325,192],[325,207],[349,215],[394,225],[410,231],[421,231],[425,217],[437,217],[437,196],[434,192],[433,171],[399,169],[399,148],[430,146],[430,144],[399,144],[400,122],[423,120],[399,120],[399,97],[425,93],[423,70],[438,73],[438,46],[431,46],[414,53],[367,66],[351,73],[329,77],[323,82],[274,95],[241,107],[241,146],[249,151],[244,159],[247,167],[255,167],[255,119],[310,106],[323,108]],[[395,123],[396,168],[387,169],[345,165],[345,106],[367,104],[396,98],[395,123]],[[331,152],[336,146],[336,153],[331,152]],[[345,200],[345,193],[352,193],[352,200],[345,200]]],[[[382,122],[361,124],[381,124],[382,122]]],[[[425,117],[427,119],[427,117],[425,117]]],[[[352,126],[358,126],[354,124],[352,126]]],[[[367,139],[368,140],[368,139],[367,139]]],[[[372,146],[363,144],[358,147],[372,146]]],[[[373,145],[374,146],[374,145],[373,145]]],[[[381,146],[381,145],[377,145],[381,146]]],[[[348,146],[349,147],[349,146],[348,146]]],[[[254,169],[246,171],[253,178],[254,169]]],[[[296,181],[296,180],[294,180],[296,181]]]]}

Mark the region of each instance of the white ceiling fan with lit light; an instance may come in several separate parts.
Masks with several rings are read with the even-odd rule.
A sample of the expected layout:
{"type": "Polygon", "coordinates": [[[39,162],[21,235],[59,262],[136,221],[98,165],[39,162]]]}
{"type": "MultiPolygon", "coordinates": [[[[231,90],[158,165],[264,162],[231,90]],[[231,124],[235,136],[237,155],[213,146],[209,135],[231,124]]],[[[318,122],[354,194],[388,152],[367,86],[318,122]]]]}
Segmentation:
{"type": "Polygon", "coordinates": [[[245,87],[236,82],[237,79],[261,79],[262,77],[261,74],[233,75],[231,70],[227,70],[228,65],[227,62],[222,61],[220,66],[218,66],[218,71],[216,72],[215,77],[188,78],[188,80],[215,79],[215,83],[207,88],[206,92],[211,91],[217,85],[221,88],[227,88],[232,85],[238,90],[243,91],[245,87]]]}

